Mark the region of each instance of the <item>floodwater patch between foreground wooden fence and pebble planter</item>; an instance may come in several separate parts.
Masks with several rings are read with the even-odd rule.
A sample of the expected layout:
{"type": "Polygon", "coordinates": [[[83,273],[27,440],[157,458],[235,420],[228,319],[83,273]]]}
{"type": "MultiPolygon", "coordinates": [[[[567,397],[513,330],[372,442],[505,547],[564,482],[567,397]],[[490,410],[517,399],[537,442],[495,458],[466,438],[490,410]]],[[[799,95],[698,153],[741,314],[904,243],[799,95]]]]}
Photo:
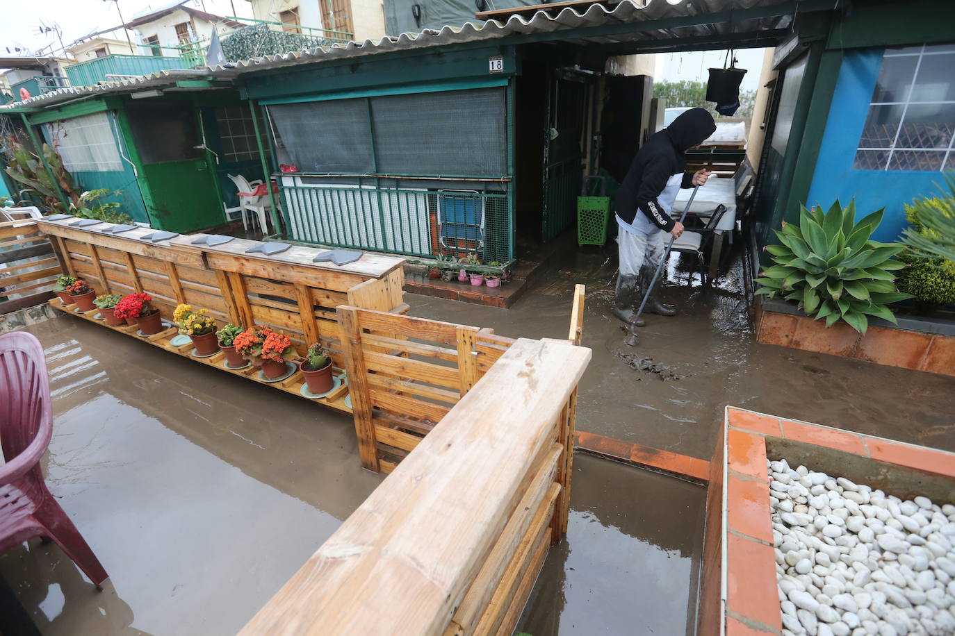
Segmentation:
{"type": "Polygon", "coordinates": [[[577,453],[567,537],[547,555],[518,630],[693,634],[706,494],[577,453]]]}

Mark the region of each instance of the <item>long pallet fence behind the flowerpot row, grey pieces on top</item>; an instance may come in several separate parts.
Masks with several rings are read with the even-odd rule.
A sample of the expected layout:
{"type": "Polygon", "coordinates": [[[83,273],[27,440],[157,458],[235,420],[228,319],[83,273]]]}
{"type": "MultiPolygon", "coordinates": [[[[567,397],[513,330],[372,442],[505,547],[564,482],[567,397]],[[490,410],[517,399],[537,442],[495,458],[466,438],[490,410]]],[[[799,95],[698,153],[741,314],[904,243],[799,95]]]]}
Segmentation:
{"type": "MultiPolygon", "coordinates": [[[[180,302],[204,307],[220,324],[231,321],[271,327],[292,340],[299,355],[322,342],[340,365],[335,307],[350,304],[382,311],[405,311],[402,259],[364,255],[338,267],[312,263],[323,250],[293,247],[278,260],[244,252],[258,241],[235,238],[210,248],[193,245],[199,236],[152,243],[137,229],[117,236],[40,221],[63,250],[68,268],[99,293],[147,292],[163,318],[172,319],[180,302]]],[[[103,228],[111,224],[101,224],[103,228]]]]}

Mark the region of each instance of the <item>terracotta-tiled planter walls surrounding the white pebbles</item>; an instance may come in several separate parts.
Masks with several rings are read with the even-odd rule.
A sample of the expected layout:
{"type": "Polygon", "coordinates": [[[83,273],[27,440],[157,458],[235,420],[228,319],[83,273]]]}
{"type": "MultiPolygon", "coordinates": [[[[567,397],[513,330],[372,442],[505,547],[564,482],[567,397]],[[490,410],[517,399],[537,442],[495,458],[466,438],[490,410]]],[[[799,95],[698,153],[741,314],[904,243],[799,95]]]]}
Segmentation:
{"type": "Polygon", "coordinates": [[[955,454],[819,424],[727,407],[710,464],[697,633],[778,634],[766,459],[812,465],[831,475],[911,498],[948,502],[955,454]]]}

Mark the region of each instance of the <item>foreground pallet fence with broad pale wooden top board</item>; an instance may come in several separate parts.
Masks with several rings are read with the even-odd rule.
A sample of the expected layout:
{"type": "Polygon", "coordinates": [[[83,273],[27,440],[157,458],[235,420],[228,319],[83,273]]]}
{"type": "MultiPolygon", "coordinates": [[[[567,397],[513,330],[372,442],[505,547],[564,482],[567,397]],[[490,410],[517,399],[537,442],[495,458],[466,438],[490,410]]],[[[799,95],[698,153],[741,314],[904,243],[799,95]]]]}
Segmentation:
{"type": "Polygon", "coordinates": [[[558,429],[589,359],[514,341],[241,633],[510,636],[562,536],[558,429]]]}

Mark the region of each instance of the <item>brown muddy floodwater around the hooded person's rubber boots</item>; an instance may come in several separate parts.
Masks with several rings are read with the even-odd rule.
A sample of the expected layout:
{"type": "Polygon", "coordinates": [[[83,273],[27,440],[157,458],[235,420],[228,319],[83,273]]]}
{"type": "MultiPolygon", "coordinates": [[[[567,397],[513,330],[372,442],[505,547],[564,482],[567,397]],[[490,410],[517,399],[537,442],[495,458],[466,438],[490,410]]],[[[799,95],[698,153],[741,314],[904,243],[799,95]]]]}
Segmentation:
{"type": "MultiPolygon", "coordinates": [[[[609,249],[609,248],[607,248],[609,249]]],[[[510,309],[408,295],[415,316],[491,327],[502,336],[566,338],[574,283],[587,285],[577,428],[709,460],[727,404],[955,451],[955,378],[759,344],[741,267],[710,290],[674,256],[661,298],[674,318],[647,316],[636,347],[610,313],[609,252],[556,257],[510,309]]]]}

